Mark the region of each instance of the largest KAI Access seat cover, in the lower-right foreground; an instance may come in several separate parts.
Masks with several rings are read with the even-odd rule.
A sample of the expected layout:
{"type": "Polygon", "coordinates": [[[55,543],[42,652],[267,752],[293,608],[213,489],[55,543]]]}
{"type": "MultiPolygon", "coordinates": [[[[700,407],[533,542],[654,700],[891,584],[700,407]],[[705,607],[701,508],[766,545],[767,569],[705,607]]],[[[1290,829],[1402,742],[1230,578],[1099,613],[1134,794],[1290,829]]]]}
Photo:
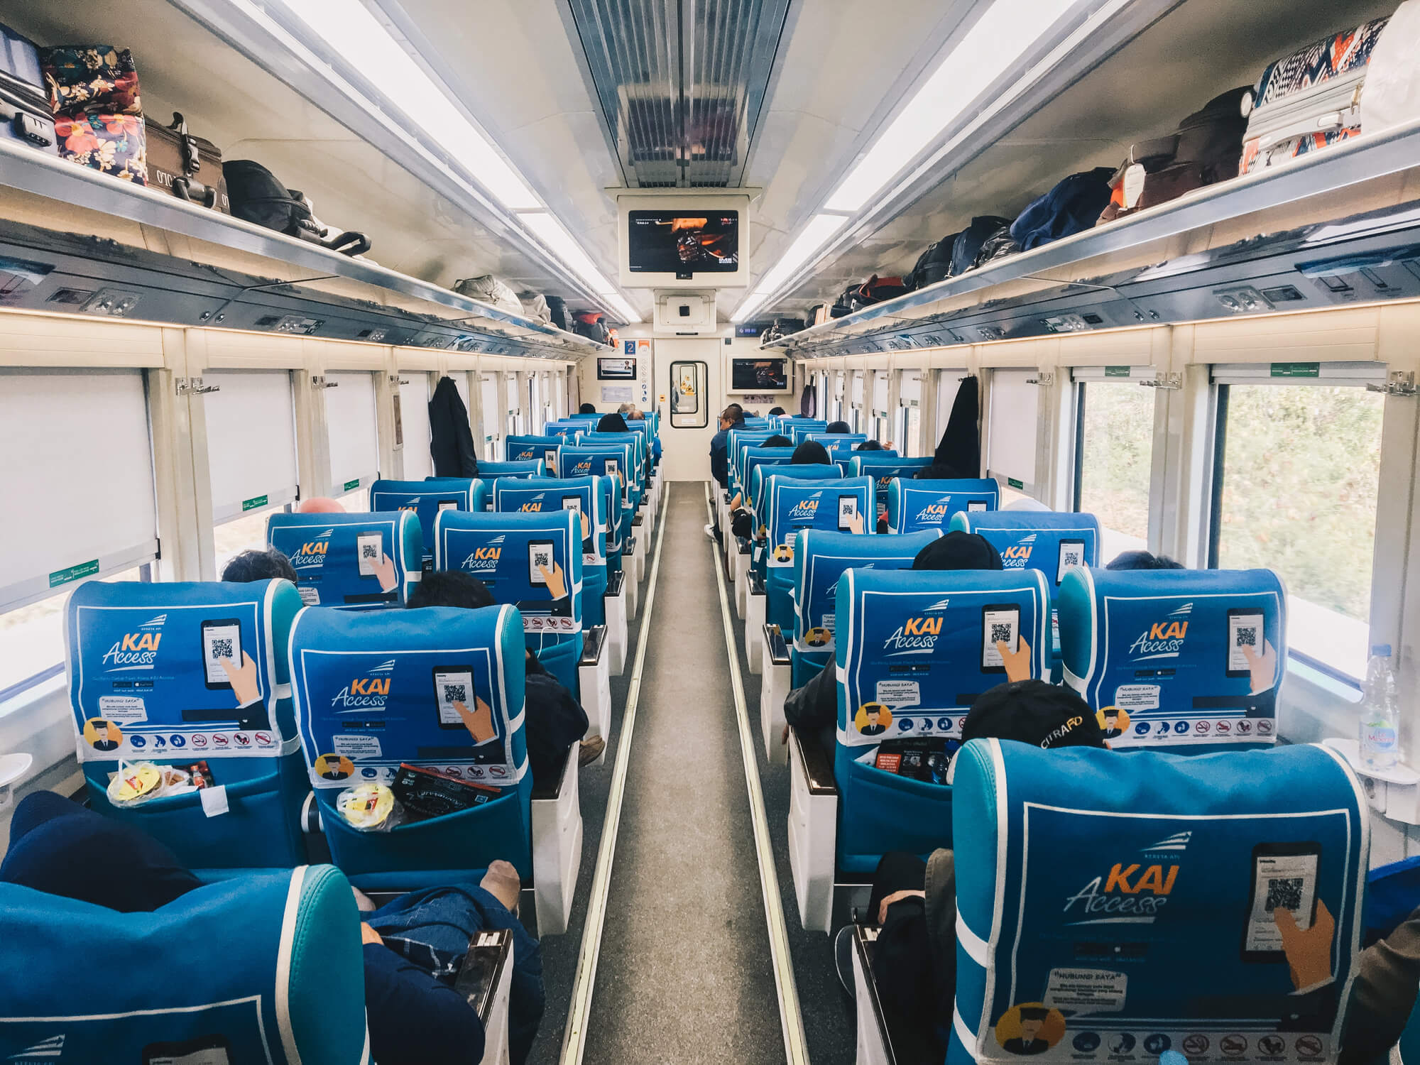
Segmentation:
{"type": "Polygon", "coordinates": [[[1336,754],[973,740],[953,772],[947,1065],[1336,1061],[1369,852],[1336,754]]]}

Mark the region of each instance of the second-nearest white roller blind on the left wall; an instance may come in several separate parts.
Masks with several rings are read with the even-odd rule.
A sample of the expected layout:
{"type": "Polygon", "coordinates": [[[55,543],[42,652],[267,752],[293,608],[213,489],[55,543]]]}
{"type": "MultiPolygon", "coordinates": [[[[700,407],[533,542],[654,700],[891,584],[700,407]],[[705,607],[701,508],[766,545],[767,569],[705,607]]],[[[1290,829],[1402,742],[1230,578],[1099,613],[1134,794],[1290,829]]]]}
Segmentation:
{"type": "Polygon", "coordinates": [[[207,371],[203,396],[212,518],[290,503],[298,480],[291,375],[284,369],[207,371]]]}

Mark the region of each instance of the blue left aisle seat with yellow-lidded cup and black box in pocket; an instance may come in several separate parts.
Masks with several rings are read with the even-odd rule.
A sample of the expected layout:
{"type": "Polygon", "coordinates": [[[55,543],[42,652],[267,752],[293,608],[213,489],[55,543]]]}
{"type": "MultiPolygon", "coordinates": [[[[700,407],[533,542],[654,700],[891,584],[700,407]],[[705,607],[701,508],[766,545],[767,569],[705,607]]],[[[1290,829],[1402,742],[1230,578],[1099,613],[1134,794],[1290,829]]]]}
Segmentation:
{"type": "Polygon", "coordinates": [[[545,824],[532,805],[521,629],[507,604],[378,615],[305,611],[291,629],[293,692],[320,825],[332,861],[358,888],[459,883],[501,858],[532,880],[547,934],[567,927],[581,862],[578,748],[568,751],[558,792],[542,799],[561,808],[562,824],[545,824]],[[466,726],[454,703],[477,726],[466,726]],[[470,781],[490,798],[386,831],[351,825],[337,807],[339,794],[362,782],[389,784],[402,764],[470,781]]]}

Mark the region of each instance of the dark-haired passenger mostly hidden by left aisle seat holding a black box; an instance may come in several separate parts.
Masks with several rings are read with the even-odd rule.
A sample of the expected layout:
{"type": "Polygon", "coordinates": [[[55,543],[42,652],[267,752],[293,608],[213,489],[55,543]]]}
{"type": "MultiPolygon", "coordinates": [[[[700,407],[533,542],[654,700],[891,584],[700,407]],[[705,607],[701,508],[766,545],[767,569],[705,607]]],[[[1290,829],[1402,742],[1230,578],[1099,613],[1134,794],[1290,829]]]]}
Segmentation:
{"type": "MultiPolygon", "coordinates": [[[[477,577],[460,569],[436,569],[432,574],[425,574],[423,579],[415,585],[406,608],[462,606],[477,609],[493,605],[493,592],[477,577]]],[[[532,770],[532,782],[550,787],[561,778],[562,765],[567,764],[567,753],[578,741],[582,744],[577,755],[578,765],[595,761],[606,747],[606,741],[601,736],[582,740],[591,724],[586,711],[571,692],[542,669],[542,663],[531,650],[525,652],[524,670],[527,673],[524,696],[527,721],[523,734],[527,737],[528,765],[532,770]]]]}

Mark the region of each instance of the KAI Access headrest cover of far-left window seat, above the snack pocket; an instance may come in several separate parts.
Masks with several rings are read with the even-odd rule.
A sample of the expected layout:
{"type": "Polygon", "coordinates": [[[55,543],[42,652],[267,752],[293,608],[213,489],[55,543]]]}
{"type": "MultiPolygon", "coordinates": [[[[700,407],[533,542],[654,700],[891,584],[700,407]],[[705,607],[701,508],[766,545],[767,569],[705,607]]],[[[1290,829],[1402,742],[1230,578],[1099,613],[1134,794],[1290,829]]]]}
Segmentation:
{"type": "Polygon", "coordinates": [[[290,581],[75,588],[65,669],[78,760],[280,754],[291,738],[285,639],[300,609],[290,581]]]}

